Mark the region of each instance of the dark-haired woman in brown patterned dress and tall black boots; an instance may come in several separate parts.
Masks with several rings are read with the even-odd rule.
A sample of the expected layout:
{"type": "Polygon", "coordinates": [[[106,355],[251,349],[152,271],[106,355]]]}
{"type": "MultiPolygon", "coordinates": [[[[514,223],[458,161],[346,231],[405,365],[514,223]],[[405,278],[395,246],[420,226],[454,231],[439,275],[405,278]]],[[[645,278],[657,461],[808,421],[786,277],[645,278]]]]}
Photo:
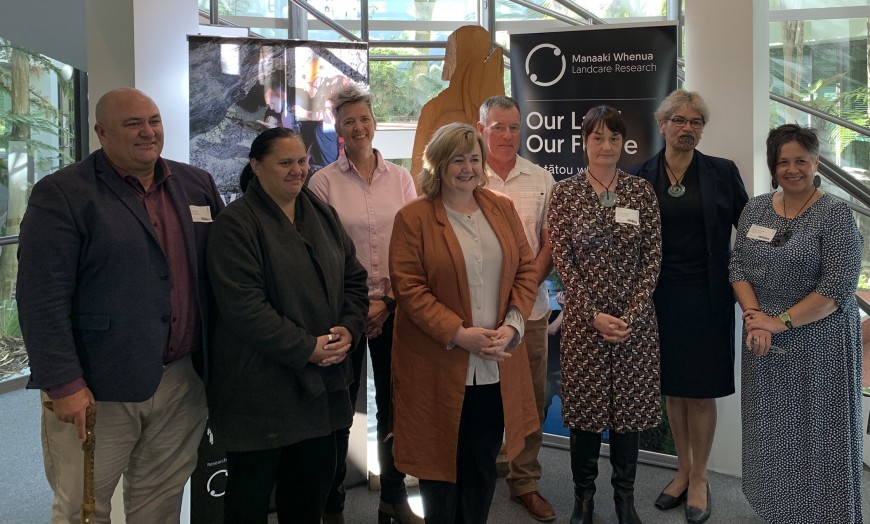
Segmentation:
{"type": "Polygon", "coordinates": [[[661,420],[659,345],[652,294],[661,263],[655,191],[617,169],[625,122],[598,106],[581,130],[588,168],[557,184],[550,203],[553,261],[566,288],[562,419],[571,430],[574,512],[591,524],[601,434],[609,430],[620,524],[634,508],[638,432],[661,420]]]}

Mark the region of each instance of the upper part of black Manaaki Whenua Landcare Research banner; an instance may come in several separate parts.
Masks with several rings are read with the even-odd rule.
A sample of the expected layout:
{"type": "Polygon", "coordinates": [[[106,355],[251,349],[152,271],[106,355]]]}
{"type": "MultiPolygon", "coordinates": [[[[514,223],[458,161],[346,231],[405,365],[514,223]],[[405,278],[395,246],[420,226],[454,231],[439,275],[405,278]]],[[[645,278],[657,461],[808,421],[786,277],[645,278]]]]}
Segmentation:
{"type": "Polygon", "coordinates": [[[622,113],[627,127],[619,167],[664,145],[653,118],[677,88],[676,22],[589,26],[511,35],[511,93],[524,116],[521,155],[556,180],[586,165],[580,126],[593,106],[622,113]]]}

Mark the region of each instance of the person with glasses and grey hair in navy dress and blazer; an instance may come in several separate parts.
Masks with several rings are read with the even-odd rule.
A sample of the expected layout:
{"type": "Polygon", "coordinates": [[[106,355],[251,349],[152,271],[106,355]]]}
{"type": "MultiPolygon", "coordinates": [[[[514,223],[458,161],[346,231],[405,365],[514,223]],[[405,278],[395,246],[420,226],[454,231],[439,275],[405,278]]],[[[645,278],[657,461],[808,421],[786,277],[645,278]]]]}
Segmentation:
{"type": "Polygon", "coordinates": [[[678,89],[655,112],[665,147],[628,170],[655,188],[662,217],[662,271],[653,301],[661,344],[662,394],[677,450],[673,480],[655,500],[686,519],[710,517],[707,460],[716,398],[734,393],[734,293],[728,280],[731,231],[748,197],[731,160],[697,150],[710,111],[678,89]]]}

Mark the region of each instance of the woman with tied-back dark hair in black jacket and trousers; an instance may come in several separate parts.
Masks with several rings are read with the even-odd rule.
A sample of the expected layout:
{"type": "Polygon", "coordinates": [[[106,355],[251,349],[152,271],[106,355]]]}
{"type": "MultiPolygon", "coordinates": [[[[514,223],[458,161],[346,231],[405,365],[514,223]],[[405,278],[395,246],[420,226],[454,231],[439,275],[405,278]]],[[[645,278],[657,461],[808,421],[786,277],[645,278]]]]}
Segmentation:
{"type": "Polygon", "coordinates": [[[350,426],[353,342],[368,311],[366,271],[335,212],[304,187],[302,139],[269,129],[251,144],[244,195],[212,226],[217,306],[209,410],[227,452],[225,522],[319,524],[350,426]]]}

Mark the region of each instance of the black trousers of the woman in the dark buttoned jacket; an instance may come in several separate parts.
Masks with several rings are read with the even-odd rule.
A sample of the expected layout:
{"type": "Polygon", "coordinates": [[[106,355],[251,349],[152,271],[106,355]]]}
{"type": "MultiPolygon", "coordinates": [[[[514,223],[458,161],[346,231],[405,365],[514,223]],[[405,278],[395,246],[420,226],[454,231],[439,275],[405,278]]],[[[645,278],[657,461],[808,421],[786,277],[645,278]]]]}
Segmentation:
{"type": "Polygon", "coordinates": [[[283,448],[227,452],[225,524],[266,524],[275,488],[278,522],[320,524],[335,472],[335,434],[283,448]]]}

